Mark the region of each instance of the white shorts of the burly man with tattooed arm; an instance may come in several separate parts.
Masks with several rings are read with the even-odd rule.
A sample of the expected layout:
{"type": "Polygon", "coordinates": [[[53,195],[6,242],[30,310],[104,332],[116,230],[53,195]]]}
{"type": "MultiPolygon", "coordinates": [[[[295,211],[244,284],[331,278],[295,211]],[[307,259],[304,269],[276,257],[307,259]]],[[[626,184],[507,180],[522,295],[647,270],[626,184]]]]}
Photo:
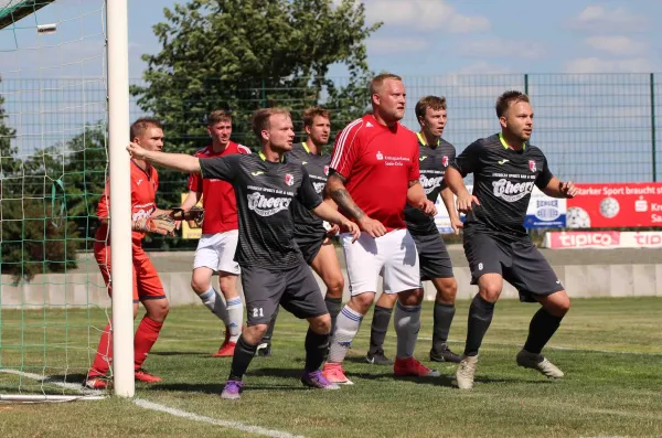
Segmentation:
{"type": "Polygon", "coordinates": [[[353,244],[352,235],[343,233],[341,239],[352,297],[376,292],[380,275],[387,293],[419,287],[418,252],[407,229],[394,229],[377,238],[361,233],[353,244]]]}

